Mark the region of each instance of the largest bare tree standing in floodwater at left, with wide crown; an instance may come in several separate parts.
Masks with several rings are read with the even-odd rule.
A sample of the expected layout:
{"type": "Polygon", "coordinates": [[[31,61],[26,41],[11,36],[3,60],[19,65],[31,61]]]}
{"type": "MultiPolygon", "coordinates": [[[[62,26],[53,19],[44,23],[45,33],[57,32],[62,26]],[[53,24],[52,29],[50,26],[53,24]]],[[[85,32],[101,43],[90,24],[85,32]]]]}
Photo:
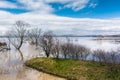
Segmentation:
{"type": "MultiPolygon", "coordinates": [[[[26,36],[27,27],[29,24],[23,21],[17,21],[14,27],[7,33],[9,42],[18,50],[22,47],[23,41],[26,36]]],[[[20,52],[21,58],[23,60],[23,54],[20,52]]]]}

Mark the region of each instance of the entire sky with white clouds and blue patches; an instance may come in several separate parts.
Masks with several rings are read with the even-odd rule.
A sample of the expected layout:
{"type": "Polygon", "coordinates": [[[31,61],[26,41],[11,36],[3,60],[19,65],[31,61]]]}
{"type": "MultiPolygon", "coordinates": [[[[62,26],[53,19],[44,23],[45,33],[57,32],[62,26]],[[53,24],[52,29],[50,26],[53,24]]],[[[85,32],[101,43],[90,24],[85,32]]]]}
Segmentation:
{"type": "Polygon", "coordinates": [[[0,0],[0,34],[18,20],[56,34],[120,34],[120,0],[0,0]]]}

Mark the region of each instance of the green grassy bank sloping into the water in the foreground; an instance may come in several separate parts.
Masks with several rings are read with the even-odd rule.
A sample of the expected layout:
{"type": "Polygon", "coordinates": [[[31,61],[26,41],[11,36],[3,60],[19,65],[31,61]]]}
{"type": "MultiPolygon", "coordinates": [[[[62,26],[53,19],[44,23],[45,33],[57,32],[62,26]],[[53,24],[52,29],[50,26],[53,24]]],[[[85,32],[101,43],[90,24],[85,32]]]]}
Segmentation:
{"type": "Polygon", "coordinates": [[[111,67],[112,64],[54,58],[34,58],[25,64],[68,80],[120,80],[120,65],[111,67]]]}

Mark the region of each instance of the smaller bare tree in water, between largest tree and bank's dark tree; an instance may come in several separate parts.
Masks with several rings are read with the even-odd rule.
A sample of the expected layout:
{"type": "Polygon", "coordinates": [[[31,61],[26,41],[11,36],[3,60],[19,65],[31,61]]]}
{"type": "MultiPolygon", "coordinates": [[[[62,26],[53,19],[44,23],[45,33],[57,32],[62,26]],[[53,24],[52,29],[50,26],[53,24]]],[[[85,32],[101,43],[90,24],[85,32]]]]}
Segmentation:
{"type": "Polygon", "coordinates": [[[28,37],[31,40],[31,43],[35,44],[36,47],[38,46],[38,40],[40,36],[41,36],[41,29],[38,27],[28,31],[28,37]]]}

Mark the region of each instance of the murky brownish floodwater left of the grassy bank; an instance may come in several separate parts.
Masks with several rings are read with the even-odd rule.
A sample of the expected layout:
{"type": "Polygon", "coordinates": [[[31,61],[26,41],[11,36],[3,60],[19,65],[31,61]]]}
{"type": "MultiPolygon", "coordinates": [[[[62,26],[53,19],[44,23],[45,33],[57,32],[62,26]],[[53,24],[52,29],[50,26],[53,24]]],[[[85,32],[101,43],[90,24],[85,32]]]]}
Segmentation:
{"type": "Polygon", "coordinates": [[[0,52],[0,80],[64,80],[24,66],[24,61],[44,56],[34,46],[28,43],[23,45],[21,52],[24,55],[24,61],[21,61],[19,51],[11,47],[10,51],[0,52]]]}

